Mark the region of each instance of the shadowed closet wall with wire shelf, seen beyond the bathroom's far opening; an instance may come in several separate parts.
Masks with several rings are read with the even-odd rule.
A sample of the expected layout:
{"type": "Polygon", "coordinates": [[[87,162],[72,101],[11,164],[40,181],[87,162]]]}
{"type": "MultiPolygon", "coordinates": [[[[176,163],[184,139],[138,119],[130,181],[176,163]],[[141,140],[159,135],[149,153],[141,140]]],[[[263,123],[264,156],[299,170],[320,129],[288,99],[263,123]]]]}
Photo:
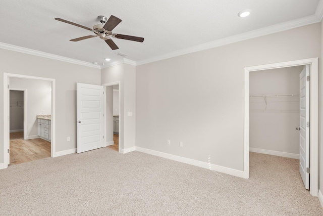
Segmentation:
{"type": "Polygon", "coordinates": [[[18,132],[24,130],[24,92],[10,90],[10,132],[18,132]],[[15,102],[12,103],[12,101],[15,102]],[[22,101],[22,104],[17,104],[22,101]],[[22,106],[17,106],[22,105],[22,106]]]}

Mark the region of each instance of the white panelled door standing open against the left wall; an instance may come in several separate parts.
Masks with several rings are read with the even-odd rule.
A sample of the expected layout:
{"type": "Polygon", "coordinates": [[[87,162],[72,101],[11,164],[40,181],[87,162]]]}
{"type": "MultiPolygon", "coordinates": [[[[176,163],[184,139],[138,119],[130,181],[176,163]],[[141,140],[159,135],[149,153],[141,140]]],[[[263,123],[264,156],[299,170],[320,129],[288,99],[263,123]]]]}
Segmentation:
{"type": "Polygon", "coordinates": [[[77,83],[77,153],[104,147],[103,92],[101,85],[77,83]]]}

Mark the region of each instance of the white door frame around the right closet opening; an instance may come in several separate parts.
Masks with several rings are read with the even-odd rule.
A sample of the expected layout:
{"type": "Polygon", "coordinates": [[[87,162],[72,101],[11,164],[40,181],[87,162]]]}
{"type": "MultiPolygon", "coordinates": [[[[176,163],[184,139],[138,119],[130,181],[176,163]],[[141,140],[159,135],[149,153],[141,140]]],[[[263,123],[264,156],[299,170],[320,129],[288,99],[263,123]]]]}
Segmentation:
{"type": "Polygon", "coordinates": [[[318,195],[318,58],[244,68],[244,178],[249,179],[249,75],[252,71],[309,65],[310,71],[310,194],[318,195]]]}

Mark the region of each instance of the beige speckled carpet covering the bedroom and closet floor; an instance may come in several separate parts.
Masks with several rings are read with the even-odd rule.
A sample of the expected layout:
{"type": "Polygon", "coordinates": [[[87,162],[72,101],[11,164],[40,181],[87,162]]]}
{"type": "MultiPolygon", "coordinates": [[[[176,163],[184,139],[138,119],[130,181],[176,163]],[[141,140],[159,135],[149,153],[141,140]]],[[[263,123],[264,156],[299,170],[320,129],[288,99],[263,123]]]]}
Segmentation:
{"type": "Polygon", "coordinates": [[[250,153],[250,179],[109,148],[0,170],[0,215],[323,215],[298,160],[250,153]]]}

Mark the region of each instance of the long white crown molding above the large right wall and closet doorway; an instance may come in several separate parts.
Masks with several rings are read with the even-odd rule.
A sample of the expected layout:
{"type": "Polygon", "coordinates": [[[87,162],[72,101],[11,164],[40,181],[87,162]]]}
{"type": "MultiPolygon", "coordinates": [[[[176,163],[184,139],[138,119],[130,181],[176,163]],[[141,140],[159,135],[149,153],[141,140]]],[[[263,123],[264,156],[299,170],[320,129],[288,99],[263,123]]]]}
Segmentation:
{"type": "MultiPolygon", "coordinates": [[[[317,8],[319,8],[319,7],[322,8],[322,2],[323,2],[323,0],[321,0],[319,2],[319,5],[318,5],[317,8]]],[[[323,11],[323,9],[322,10],[316,10],[317,13],[323,13],[322,11],[323,11]]],[[[280,31],[289,30],[289,29],[292,29],[292,28],[297,28],[297,27],[317,23],[317,22],[320,22],[320,20],[321,20],[321,18],[319,18],[317,15],[311,15],[311,16],[308,16],[308,17],[304,17],[304,18],[300,18],[300,19],[296,19],[296,20],[292,20],[292,21],[288,21],[288,22],[279,23],[279,24],[276,24],[276,25],[260,28],[260,29],[257,29],[257,30],[253,30],[253,31],[242,33],[242,34],[222,38],[222,39],[219,39],[219,40],[214,40],[214,41],[207,42],[205,44],[201,44],[201,45],[198,45],[198,46],[190,47],[190,48],[187,48],[187,49],[182,49],[182,50],[174,51],[174,52],[167,53],[167,54],[164,54],[164,55],[159,55],[159,56],[156,56],[156,57],[152,57],[152,58],[144,59],[144,60],[141,60],[141,61],[137,61],[136,65],[137,66],[138,65],[143,65],[143,64],[147,64],[147,63],[151,63],[151,62],[155,62],[155,61],[160,61],[160,60],[164,60],[164,59],[173,58],[173,57],[176,57],[176,56],[181,56],[181,55],[194,53],[194,52],[198,52],[198,51],[202,51],[202,50],[221,47],[221,46],[224,46],[224,45],[233,44],[234,42],[239,42],[239,41],[243,41],[243,40],[247,40],[247,39],[251,39],[251,38],[255,38],[255,37],[260,37],[260,36],[264,36],[264,35],[268,35],[268,34],[272,34],[272,33],[277,33],[277,32],[280,32],[280,31]]]]}

